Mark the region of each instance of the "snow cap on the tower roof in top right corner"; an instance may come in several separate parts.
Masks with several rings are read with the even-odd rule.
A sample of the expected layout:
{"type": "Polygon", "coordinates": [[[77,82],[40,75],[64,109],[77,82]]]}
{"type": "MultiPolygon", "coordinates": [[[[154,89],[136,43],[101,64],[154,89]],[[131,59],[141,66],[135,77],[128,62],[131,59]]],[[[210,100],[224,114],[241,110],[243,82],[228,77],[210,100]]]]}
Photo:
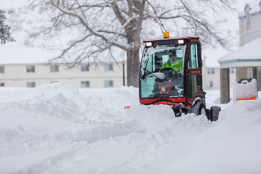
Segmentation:
{"type": "Polygon", "coordinates": [[[247,7],[250,8],[250,11],[249,11],[249,15],[250,16],[254,16],[254,15],[260,14],[260,11],[261,11],[261,0],[255,0],[253,2],[246,3],[244,10],[240,11],[238,13],[238,18],[239,19],[244,19],[246,17],[246,12],[245,11],[246,11],[247,7]]]}

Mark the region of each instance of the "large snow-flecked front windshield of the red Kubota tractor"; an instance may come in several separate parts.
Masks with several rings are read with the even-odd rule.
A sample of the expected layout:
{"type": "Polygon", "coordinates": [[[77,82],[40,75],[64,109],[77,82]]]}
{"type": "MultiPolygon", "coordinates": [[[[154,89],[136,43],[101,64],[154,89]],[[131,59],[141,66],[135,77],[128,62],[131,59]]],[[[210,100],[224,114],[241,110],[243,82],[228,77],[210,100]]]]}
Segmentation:
{"type": "Polygon", "coordinates": [[[140,97],[183,97],[186,45],[145,48],[141,60],[140,97]]]}

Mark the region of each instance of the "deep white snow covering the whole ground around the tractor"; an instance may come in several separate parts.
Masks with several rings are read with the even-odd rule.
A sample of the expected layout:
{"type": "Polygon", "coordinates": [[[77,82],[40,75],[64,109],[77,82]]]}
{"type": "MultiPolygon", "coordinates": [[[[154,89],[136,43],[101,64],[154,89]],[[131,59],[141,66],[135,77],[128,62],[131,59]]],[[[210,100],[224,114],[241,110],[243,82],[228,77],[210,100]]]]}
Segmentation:
{"type": "Polygon", "coordinates": [[[261,99],[206,96],[222,108],[217,122],[146,108],[127,117],[133,87],[0,88],[0,173],[261,173],[261,99]]]}

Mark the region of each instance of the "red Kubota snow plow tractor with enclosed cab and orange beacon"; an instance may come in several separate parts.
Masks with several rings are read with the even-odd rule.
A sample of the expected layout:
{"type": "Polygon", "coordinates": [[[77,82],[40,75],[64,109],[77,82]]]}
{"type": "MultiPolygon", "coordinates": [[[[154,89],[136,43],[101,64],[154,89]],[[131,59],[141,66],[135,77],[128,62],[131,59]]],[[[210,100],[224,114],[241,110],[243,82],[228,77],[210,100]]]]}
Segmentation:
{"type": "MultiPolygon", "coordinates": [[[[199,37],[148,39],[140,65],[139,98],[142,105],[169,105],[175,117],[181,113],[206,115],[217,121],[219,106],[206,109],[202,88],[199,37]]],[[[131,110],[132,106],[124,109],[131,110]]],[[[135,108],[135,107],[134,107],[135,108]]],[[[148,106],[149,109],[153,106],[148,106]]],[[[164,113],[164,111],[159,111],[164,113]]]]}

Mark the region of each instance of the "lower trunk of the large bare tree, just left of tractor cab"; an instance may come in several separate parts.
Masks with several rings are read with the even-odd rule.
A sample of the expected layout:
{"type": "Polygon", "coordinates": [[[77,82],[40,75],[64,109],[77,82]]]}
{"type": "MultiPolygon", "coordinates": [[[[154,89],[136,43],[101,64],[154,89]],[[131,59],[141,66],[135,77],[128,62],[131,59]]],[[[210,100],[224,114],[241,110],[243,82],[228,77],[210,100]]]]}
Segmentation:
{"type": "Polygon", "coordinates": [[[139,87],[140,59],[139,50],[127,51],[127,85],[139,87]]]}

